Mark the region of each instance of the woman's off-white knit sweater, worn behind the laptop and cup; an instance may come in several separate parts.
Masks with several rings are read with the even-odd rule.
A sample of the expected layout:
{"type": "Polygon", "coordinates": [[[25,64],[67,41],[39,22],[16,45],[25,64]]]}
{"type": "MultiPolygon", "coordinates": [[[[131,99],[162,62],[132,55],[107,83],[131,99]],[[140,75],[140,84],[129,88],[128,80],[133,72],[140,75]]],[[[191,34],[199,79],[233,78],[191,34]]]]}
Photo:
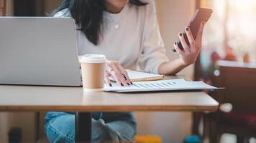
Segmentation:
{"type": "MultiPolygon", "coordinates": [[[[169,59],[160,36],[155,1],[147,2],[147,6],[127,4],[119,14],[104,11],[103,38],[97,46],[77,31],[78,54],[105,54],[124,68],[157,74],[160,64],[169,59]],[[119,24],[118,29],[115,24],[119,24]]],[[[64,9],[55,16],[70,16],[70,12],[64,9]]]]}

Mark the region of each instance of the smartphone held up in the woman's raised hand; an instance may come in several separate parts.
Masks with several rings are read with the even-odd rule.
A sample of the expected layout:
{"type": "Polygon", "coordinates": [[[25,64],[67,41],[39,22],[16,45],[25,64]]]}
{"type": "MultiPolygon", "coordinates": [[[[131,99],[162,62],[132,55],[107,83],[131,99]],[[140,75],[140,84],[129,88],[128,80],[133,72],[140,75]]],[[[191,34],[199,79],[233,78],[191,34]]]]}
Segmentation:
{"type": "MultiPolygon", "coordinates": [[[[199,8],[196,9],[195,14],[193,15],[190,23],[188,24],[189,29],[191,29],[191,33],[193,35],[193,38],[196,39],[197,33],[198,33],[198,29],[200,28],[200,25],[203,21],[207,22],[212,14],[212,10],[211,9],[204,9],[204,8],[199,8]]],[[[186,32],[183,31],[183,35],[184,35],[184,39],[186,40],[186,43],[189,44],[188,41],[188,37],[186,35],[186,32]]],[[[183,50],[183,46],[180,42],[180,39],[178,39],[177,41],[178,47],[183,50]]],[[[176,50],[173,48],[173,51],[175,52],[176,50]]]]}

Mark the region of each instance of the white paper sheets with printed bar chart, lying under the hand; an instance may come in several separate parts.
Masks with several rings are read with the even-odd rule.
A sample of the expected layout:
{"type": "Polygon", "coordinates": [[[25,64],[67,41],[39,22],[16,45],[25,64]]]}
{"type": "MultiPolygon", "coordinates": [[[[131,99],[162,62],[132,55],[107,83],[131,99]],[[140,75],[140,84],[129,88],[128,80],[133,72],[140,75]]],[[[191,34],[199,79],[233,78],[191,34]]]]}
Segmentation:
{"type": "Polygon", "coordinates": [[[185,79],[160,80],[151,82],[133,82],[132,86],[120,87],[112,83],[112,87],[104,85],[105,92],[157,92],[157,91],[178,91],[178,90],[198,90],[217,89],[204,82],[190,82],[185,79]]]}

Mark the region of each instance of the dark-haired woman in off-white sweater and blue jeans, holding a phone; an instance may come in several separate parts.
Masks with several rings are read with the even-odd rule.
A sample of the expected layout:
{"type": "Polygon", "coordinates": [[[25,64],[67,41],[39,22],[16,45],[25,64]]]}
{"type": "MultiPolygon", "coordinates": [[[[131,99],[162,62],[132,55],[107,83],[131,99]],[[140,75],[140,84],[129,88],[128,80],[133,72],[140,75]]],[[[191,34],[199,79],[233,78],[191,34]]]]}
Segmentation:
{"type": "MultiPolygon", "coordinates": [[[[184,50],[174,47],[179,59],[169,61],[157,24],[155,1],[147,0],[65,0],[56,17],[73,17],[77,26],[78,54],[105,54],[105,82],[113,77],[120,86],[130,86],[124,69],[140,68],[156,74],[175,74],[196,61],[201,51],[204,23],[193,39],[186,27],[190,46],[178,34],[184,50]]],[[[93,142],[131,142],[136,133],[132,113],[93,113],[93,142]]],[[[75,115],[48,112],[45,132],[50,142],[74,142],[75,115]]]]}

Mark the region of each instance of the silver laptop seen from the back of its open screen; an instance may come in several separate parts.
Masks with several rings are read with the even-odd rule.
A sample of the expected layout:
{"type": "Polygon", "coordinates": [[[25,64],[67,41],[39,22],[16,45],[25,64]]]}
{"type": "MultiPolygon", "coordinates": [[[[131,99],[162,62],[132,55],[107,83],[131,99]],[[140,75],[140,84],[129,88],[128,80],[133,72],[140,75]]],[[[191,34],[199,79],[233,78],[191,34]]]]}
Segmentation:
{"type": "Polygon", "coordinates": [[[1,17],[0,84],[81,86],[73,19],[1,17]]]}

